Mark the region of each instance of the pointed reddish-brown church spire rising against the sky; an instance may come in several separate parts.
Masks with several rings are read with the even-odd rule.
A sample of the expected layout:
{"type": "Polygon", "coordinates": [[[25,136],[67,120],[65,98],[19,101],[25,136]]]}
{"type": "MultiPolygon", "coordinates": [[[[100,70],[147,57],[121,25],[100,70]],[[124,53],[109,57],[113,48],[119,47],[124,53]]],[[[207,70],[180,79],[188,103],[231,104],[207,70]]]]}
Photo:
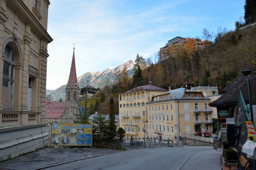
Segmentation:
{"type": "Polygon", "coordinates": [[[71,69],[69,73],[67,88],[79,89],[77,84],[77,77],[76,77],[75,47],[73,50],[73,57],[72,57],[72,63],[71,63],[71,69]]]}

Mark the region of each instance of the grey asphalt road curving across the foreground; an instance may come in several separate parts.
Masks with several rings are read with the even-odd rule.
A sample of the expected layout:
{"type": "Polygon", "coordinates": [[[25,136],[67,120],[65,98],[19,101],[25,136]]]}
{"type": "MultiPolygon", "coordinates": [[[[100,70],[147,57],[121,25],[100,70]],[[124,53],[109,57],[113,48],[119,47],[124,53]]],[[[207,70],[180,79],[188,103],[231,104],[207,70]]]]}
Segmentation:
{"type": "Polygon", "coordinates": [[[221,169],[220,154],[211,147],[148,148],[79,160],[48,169],[221,169]]]}

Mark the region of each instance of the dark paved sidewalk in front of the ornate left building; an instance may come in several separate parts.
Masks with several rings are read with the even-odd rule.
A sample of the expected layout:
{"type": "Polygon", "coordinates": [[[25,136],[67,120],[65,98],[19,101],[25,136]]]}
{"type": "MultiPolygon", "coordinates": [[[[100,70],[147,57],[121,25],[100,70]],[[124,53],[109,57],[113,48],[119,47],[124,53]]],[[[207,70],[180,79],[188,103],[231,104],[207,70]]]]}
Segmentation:
{"type": "Polygon", "coordinates": [[[117,152],[123,152],[123,150],[106,148],[43,148],[16,159],[8,160],[0,164],[0,169],[40,169],[62,162],[73,162],[79,159],[117,152]]]}

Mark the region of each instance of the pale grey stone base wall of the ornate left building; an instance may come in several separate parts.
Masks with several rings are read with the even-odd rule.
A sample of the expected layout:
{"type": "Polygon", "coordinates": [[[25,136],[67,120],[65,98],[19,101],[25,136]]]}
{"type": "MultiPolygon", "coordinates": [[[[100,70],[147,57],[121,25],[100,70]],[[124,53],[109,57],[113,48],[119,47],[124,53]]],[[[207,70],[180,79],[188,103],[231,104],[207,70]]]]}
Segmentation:
{"type": "Polygon", "coordinates": [[[47,124],[0,128],[0,162],[47,146],[47,124]]]}

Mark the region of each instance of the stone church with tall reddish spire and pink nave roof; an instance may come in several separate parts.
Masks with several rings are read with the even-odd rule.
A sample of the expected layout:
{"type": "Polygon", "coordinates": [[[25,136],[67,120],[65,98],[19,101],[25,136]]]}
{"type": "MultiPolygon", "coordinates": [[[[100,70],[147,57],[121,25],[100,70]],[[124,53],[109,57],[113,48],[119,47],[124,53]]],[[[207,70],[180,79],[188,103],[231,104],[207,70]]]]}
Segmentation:
{"type": "Polygon", "coordinates": [[[60,122],[73,124],[79,117],[79,85],[76,76],[75,48],[66,85],[65,102],[49,102],[45,104],[45,118],[49,123],[60,122]]]}

